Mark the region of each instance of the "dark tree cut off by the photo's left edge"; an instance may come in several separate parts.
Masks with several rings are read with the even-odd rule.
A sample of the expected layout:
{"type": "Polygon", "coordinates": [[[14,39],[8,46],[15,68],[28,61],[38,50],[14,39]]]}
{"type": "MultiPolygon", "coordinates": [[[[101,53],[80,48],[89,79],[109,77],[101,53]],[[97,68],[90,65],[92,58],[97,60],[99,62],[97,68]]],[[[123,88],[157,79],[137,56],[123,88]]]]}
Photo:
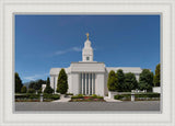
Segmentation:
{"type": "Polygon", "coordinates": [[[22,87],[23,87],[22,80],[20,79],[19,73],[15,72],[15,93],[20,93],[22,87]]]}

